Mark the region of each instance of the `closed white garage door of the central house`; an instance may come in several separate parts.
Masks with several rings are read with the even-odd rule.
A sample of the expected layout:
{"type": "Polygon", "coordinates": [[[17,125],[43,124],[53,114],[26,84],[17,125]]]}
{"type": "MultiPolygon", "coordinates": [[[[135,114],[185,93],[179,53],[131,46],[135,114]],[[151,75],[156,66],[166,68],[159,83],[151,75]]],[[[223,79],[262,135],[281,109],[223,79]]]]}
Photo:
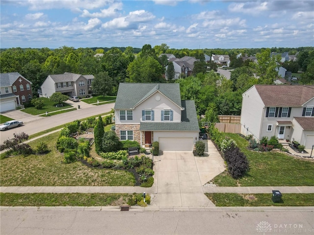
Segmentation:
{"type": "Polygon", "coordinates": [[[193,151],[193,138],[159,137],[161,151],[193,151]]]}

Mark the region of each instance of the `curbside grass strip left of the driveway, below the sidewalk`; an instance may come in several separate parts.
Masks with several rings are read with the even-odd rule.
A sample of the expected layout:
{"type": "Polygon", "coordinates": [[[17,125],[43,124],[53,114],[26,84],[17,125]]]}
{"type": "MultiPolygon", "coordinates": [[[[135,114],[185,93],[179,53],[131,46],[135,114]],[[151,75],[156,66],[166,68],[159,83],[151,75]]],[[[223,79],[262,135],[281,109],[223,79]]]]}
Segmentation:
{"type": "Polygon", "coordinates": [[[0,193],[0,206],[120,206],[130,197],[127,193],[0,193]]]}

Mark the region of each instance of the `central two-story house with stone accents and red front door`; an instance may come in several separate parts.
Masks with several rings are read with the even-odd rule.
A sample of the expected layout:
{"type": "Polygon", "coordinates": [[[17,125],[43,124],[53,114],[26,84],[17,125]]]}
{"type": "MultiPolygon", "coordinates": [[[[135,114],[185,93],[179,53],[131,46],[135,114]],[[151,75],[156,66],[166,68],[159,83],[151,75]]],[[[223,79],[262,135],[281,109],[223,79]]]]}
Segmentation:
{"type": "Polygon", "coordinates": [[[161,151],[192,151],[198,140],[195,103],[181,100],[177,83],[120,83],[114,110],[121,141],[158,141],[161,151]]]}

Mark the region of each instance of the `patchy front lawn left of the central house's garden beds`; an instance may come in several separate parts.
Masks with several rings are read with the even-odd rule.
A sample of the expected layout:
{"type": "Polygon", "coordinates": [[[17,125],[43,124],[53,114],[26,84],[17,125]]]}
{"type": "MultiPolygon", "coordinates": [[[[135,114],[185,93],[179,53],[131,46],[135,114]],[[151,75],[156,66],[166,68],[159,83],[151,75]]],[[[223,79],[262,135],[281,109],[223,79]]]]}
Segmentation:
{"type": "Polygon", "coordinates": [[[134,186],[134,175],[126,170],[62,164],[63,155],[55,147],[58,136],[56,132],[29,143],[35,149],[39,141],[46,142],[48,154],[1,159],[1,186],[134,186]]]}

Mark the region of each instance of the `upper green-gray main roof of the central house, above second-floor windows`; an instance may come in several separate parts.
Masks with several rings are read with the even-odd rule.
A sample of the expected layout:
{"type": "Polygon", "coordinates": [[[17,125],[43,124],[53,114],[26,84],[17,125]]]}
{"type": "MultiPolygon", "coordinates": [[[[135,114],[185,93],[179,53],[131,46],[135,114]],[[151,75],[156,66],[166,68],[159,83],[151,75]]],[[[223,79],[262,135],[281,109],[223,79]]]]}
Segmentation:
{"type": "Polygon", "coordinates": [[[120,83],[114,109],[132,109],[157,91],[182,107],[178,83],[120,83]]]}

